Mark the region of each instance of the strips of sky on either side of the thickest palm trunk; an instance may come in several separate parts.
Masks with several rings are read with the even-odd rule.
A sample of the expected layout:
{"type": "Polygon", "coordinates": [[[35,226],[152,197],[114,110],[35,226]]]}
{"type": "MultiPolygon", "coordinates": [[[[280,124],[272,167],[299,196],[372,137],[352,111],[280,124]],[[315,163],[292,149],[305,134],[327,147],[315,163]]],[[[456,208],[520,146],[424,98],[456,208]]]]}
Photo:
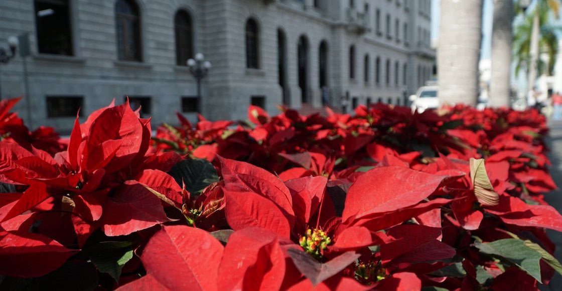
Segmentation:
{"type": "MultiPolygon", "coordinates": [[[[431,38],[436,40],[439,35],[439,7],[440,0],[432,0],[432,23],[431,38]]],[[[492,49],[492,19],[493,19],[493,0],[484,0],[484,10],[482,11],[482,59],[490,59],[492,49]]]]}

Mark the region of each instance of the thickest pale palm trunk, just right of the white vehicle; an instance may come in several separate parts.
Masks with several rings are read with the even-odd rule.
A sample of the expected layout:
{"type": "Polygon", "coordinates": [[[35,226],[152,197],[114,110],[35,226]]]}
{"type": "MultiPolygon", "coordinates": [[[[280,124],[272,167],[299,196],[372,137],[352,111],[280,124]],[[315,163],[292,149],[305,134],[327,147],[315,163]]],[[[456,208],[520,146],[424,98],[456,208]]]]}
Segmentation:
{"type": "Polygon", "coordinates": [[[476,105],[483,0],[441,0],[437,66],[441,104],[476,105]]]}

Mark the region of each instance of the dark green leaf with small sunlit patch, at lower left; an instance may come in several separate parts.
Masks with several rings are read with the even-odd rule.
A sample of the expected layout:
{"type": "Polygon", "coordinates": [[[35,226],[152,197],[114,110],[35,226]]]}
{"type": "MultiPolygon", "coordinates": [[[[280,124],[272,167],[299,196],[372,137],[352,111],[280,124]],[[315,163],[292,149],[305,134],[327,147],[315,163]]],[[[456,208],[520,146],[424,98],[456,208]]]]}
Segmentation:
{"type": "Polygon", "coordinates": [[[101,242],[88,248],[86,252],[99,272],[109,274],[118,282],[123,266],[133,258],[131,244],[130,242],[101,242]]]}

